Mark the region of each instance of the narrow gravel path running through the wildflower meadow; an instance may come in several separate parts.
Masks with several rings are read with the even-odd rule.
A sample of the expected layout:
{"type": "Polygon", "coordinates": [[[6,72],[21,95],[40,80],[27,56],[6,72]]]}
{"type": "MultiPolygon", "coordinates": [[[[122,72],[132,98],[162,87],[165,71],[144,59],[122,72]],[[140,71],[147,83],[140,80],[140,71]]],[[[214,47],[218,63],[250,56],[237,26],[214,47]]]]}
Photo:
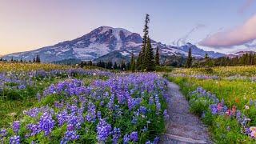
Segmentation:
{"type": "Polygon", "coordinates": [[[169,119],[166,121],[166,134],[160,143],[212,143],[209,133],[194,114],[190,114],[189,103],[179,90],[179,86],[168,82],[169,119]]]}

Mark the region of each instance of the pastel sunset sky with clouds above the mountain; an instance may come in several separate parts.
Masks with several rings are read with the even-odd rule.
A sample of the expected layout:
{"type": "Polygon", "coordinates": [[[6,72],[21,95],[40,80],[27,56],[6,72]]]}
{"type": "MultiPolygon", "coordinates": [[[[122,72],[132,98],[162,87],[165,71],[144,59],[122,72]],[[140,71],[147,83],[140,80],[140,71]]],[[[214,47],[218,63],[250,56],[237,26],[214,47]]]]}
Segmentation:
{"type": "Polygon", "coordinates": [[[72,40],[99,26],[142,34],[166,45],[256,50],[256,0],[0,0],[0,54],[72,40]]]}

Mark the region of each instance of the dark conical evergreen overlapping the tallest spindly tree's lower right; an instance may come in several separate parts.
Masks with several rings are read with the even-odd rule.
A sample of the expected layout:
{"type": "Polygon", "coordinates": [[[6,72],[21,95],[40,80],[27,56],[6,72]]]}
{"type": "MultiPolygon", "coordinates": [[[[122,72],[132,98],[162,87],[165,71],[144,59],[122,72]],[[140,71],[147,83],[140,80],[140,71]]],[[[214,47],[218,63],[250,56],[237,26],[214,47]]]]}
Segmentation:
{"type": "Polygon", "coordinates": [[[146,43],[146,53],[145,53],[145,68],[147,71],[153,71],[155,69],[155,62],[154,62],[154,51],[151,46],[151,41],[150,38],[148,38],[147,43],[146,43]]]}

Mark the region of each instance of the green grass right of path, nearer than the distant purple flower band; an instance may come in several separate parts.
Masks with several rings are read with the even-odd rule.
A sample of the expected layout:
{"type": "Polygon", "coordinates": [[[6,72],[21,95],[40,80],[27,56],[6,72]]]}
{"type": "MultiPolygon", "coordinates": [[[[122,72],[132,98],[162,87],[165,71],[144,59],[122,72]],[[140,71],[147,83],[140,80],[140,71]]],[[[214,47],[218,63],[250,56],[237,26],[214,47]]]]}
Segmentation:
{"type": "Polygon", "coordinates": [[[206,98],[189,97],[191,91],[198,86],[216,94],[219,99],[224,99],[226,105],[231,108],[237,106],[252,121],[250,126],[256,126],[256,109],[250,106],[250,98],[256,98],[256,85],[253,82],[246,81],[227,81],[227,80],[198,80],[196,78],[173,78],[169,80],[177,83],[190,102],[190,111],[201,116],[203,111],[206,112],[202,122],[207,124],[214,142],[216,143],[253,143],[254,140],[241,133],[241,126],[233,118],[226,116],[215,116],[210,113],[209,103],[206,98]],[[245,109],[245,105],[250,106],[250,110],[245,109]]]}

